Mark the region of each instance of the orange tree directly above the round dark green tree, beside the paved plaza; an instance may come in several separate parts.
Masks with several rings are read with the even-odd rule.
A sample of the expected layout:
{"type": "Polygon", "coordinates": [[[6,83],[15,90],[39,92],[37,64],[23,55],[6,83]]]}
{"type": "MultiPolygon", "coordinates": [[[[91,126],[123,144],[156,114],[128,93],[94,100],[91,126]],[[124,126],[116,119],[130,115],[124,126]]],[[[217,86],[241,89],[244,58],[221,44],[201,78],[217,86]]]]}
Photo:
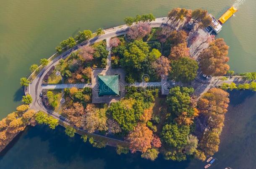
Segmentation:
{"type": "Polygon", "coordinates": [[[190,53],[187,43],[178,43],[178,45],[172,47],[169,58],[172,60],[177,60],[179,58],[189,56],[190,53]]]}

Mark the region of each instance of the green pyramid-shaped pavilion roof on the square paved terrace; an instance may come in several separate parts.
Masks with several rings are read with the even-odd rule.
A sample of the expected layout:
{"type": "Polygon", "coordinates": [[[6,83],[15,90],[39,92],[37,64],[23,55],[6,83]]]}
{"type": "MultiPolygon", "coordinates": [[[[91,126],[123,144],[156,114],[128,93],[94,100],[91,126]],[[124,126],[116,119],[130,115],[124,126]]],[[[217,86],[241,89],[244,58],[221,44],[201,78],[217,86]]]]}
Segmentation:
{"type": "Polygon", "coordinates": [[[99,96],[118,95],[119,96],[119,75],[98,75],[99,96]]]}

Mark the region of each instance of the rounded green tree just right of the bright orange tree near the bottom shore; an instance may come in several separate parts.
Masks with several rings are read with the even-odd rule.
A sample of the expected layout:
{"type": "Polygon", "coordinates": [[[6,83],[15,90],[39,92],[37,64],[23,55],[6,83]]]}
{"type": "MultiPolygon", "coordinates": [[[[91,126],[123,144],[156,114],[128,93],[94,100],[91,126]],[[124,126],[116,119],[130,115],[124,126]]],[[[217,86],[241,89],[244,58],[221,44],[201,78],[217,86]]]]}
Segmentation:
{"type": "Polygon", "coordinates": [[[187,144],[189,126],[180,126],[176,124],[166,124],[162,129],[162,140],[171,147],[180,149],[187,144]]]}

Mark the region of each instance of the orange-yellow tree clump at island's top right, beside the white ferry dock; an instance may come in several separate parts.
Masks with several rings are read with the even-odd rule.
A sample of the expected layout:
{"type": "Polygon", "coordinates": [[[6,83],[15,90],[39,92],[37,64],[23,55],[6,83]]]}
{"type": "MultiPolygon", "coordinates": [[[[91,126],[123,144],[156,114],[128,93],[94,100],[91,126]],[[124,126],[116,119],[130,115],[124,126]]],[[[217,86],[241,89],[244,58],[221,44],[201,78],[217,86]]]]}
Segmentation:
{"type": "Polygon", "coordinates": [[[212,23],[212,18],[209,16],[207,10],[193,10],[191,16],[195,21],[199,21],[199,28],[206,28],[212,23]]]}

